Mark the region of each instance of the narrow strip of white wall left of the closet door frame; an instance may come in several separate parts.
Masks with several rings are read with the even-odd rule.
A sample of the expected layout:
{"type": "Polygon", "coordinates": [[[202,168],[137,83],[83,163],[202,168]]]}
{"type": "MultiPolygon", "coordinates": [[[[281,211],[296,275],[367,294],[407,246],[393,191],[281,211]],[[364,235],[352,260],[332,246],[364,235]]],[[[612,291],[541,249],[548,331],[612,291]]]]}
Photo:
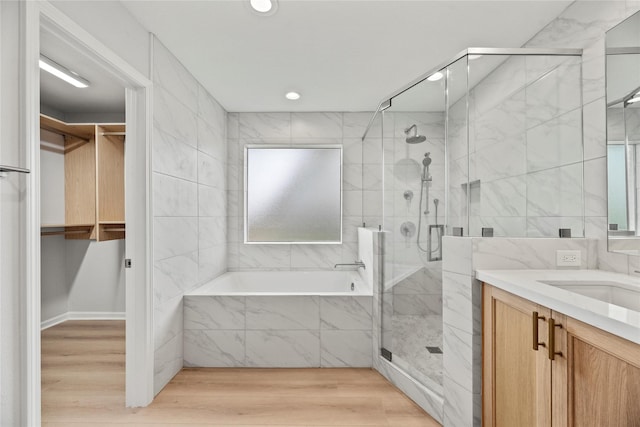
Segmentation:
{"type": "MultiPolygon", "coordinates": [[[[0,163],[25,166],[20,143],[19,3],[0,2],[0,163]]],[[[20,353],[24,311],[24,218],[26,177],[11,173],[0,178],[0,425],[21,425],[24,355],[20,353]]]]}

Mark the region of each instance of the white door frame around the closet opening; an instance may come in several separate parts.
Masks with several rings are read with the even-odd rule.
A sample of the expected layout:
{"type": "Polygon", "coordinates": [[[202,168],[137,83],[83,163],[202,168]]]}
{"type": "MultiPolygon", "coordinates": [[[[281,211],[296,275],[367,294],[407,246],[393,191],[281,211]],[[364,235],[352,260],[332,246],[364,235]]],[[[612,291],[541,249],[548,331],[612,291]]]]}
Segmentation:
{"type": "Polygon", "coordinates": [[[111,71],[126,89],[127,146],[125,151],[126,257],[126,405],[146,406],[153,400],[153,293],[151,286],[151,167],[152,82],[115,52],[47,1],[21,4],[22,68],[20,127],[24,132],[27,165],[24,281],[21,293],[24,337],[21,354],[22,418],[25,425],[41,422],[40,347],[40,28],[46,27],[72,47],[89,54],[111,71]],[[128,166],[127,166],[128,164],[128,166]]]}

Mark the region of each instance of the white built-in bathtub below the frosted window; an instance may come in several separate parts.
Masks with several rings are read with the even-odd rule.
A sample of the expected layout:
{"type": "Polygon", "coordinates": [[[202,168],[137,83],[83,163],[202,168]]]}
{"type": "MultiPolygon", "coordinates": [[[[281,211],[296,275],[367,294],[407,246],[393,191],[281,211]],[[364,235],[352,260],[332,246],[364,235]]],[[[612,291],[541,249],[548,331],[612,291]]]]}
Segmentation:
{"type": "Polygon", "coordinates": [[[373,288],[357,271],[242,271],[225,273],[186,295],[371,296],[373,288]]]}

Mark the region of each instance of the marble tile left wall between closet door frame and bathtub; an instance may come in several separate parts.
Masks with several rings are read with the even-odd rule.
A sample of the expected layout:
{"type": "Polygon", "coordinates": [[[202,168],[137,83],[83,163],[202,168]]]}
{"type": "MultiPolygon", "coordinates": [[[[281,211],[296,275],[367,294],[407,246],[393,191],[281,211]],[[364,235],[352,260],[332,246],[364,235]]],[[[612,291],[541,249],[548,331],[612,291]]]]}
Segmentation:
{"type": "Polygon", "coordinates": [[[153,42],[153,305],[158,393],[183,366],[185,292],[226,271],[226,112],[153,42]]]}

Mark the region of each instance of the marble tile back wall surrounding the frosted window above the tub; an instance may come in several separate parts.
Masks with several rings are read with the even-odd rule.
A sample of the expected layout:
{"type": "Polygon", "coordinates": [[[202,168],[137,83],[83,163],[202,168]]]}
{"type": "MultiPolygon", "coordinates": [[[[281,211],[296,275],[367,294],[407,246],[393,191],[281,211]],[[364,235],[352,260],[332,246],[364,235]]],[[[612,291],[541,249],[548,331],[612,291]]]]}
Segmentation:
{"type": "Polygon", "coordinates": [[[230,271],[326,270],[358,256],[357,228],[381,224],[381,127],[361,138],[371,113],[230,113],[227,151],[227,257],[230,271]],[[343,146],[341,245],[245,245],[244,147],[247,144],[343,146]]]}

